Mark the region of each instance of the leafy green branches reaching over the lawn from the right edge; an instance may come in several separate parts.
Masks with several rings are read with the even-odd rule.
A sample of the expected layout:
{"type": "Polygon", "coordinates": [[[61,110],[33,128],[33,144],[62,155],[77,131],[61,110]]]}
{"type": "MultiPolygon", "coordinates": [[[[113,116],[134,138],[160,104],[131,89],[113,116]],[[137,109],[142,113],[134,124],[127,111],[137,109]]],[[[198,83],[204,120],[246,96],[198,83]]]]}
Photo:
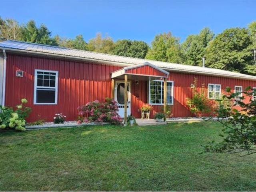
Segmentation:
{"type": "MultiPolygon", "coordinates": [[[[256,90],[247,87],[245,91],[232,93],[226,88],[227,95],[219,100],[217,120],[223,125],[221,142],[208,142],[205,152],[239,153],[240,156],[256,153],[256,90]],[[250,98],[246,101],[245,98],[250,98]],[[224,102],[228,101],[228,102],[224,102]],[[225,103],[225,104],[224,104],[225,103]],[[241,153],[243,152],[243,153],[241,153]]],[[[212,120],[209,118],[208,120],[212,120]]]]}

